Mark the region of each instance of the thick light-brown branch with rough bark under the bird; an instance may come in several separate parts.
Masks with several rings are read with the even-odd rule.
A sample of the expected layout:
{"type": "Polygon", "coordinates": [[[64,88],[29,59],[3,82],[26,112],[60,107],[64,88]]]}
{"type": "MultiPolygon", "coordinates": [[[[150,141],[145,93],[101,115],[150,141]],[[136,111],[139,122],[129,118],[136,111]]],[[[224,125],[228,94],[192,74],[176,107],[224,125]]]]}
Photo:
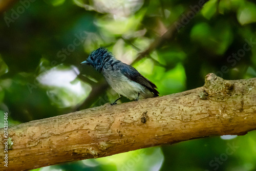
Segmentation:
{"type": "MultiPolygon", "coordinates": [[[[28,170],[206,136],[244,135],[256,130],[255,111],[256,78],[208,74],[197,89],[12,126],[9,164],[0,169],[28,170]]],[[[3,161],[3,150],[0,154],[3,161]]]]}

